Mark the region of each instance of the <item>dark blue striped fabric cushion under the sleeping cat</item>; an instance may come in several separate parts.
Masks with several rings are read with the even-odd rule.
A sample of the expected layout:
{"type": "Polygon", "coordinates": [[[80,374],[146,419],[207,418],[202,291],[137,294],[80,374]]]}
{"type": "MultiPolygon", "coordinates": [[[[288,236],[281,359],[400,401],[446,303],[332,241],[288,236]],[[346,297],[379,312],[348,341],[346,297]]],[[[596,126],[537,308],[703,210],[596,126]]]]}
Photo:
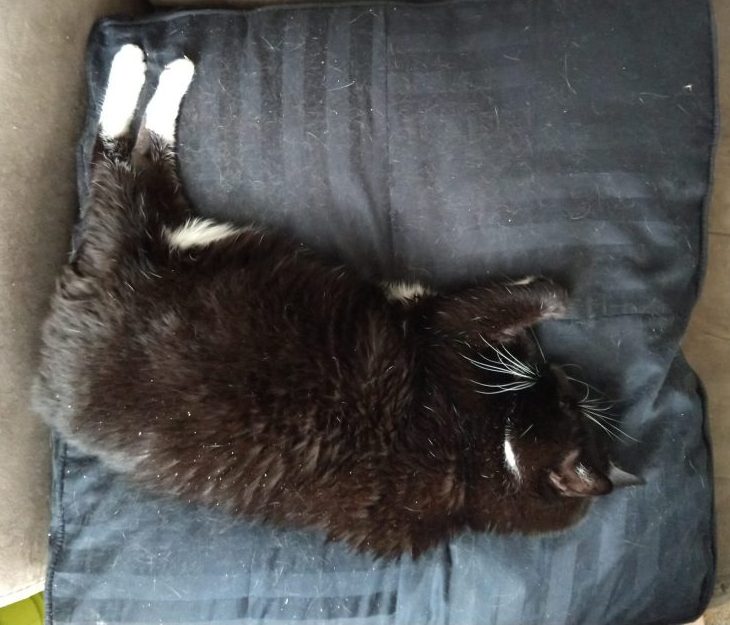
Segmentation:
{"type": "MultiPolygon", "coordinates": [[[[461,0],[104,21],[109,62],[197,63],[180,118],[200,213],[282,227],[374,278],[546,274],[540,338],[616,400],[647,481],[544,537],[463,535],[417,561],[152,497],[56,441],[49,625],[670,625],[712,588],[701,388],[679,342],[704,262],[715,127],[705,0],[461,0]]],[[[149,97],[154,79],[144,97],[149,97]]],[[[286,337],[282,337],[286,340],[286,337]]]]}

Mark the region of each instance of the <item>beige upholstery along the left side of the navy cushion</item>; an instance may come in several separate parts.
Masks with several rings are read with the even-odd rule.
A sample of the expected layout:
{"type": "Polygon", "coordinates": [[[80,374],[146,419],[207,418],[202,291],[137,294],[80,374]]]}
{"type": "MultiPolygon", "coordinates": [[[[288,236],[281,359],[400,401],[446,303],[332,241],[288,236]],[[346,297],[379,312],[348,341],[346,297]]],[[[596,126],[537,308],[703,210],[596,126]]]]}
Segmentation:
{"type": "Polygon", "coordinates": [[[45,579],[50,448],[28,398],[76,211],[86,38],[97,17],[139,4],[0,0],[0,606],[45,579]]]}

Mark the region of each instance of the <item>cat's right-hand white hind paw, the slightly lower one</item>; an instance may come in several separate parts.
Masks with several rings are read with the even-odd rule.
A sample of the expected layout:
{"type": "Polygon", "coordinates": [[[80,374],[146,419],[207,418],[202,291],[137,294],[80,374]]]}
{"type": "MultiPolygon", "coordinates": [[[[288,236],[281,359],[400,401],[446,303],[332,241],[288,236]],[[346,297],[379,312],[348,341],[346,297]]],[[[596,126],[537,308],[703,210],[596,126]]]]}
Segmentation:
{"type": "Polygon", "coordinates": [[[175,143],[175,123],[180,112],[180,102],[193,79],[195,66],[184,57],[177,59],[160,74],[155,94],[145,111],[145,127],[165,139],[175,143]]]}

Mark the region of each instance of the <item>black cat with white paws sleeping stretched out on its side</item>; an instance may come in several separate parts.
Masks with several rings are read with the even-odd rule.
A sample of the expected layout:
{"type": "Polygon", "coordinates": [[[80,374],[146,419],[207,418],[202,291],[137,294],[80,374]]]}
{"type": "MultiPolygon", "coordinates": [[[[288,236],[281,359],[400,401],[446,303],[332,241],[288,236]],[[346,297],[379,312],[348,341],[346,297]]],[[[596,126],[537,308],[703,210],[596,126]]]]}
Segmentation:
{"type": "Polygon", "coordinates": [[[155,491],[380,555],[559,530],[636,481],[527,332],[563,312],[554,283],[373,284],[258,224],[194,217],[174,152],[192,76],[165,68],[135,142],[144,54],[113,61],[43,334],[49,424],[155,491]]]}

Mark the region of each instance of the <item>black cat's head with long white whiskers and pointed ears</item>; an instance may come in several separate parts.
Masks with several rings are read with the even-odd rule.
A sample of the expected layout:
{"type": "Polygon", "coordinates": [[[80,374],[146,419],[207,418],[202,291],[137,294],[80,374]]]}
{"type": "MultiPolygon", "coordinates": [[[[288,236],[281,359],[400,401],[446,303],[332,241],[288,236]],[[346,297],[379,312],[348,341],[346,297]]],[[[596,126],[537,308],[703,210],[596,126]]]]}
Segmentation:
{"type": "Polygon", "coordinates": [[[546,362],[530,336],[510,345],[484,342],[462,356],[471,367],[464,393],[482,397],[469,401],[469,410],[489,415],[484,429],[475,430],[475,526],[481,518],[498,531],[563,529],[592,498],[642,483],[611,461],[606,433],[618,432],[614,417],[590,387],[546,362]],[[497,506],[490,500],[495,492],[502,497],[497,506]]]}

